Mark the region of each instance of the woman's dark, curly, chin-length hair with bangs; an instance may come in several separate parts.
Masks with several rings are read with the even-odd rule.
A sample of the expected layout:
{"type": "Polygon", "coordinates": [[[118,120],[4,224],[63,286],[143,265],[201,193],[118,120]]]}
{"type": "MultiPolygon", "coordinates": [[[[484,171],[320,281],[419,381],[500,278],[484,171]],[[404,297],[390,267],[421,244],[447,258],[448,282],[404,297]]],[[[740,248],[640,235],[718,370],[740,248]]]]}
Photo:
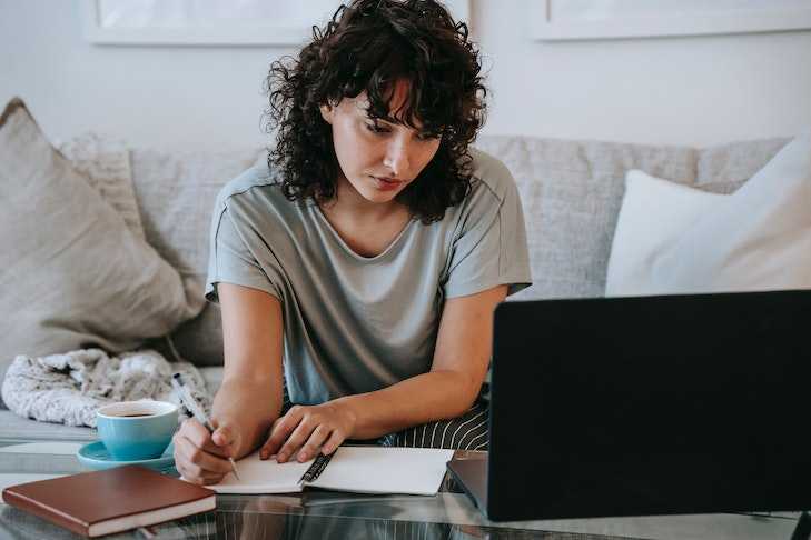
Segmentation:
{"type": "Polygon", "coordinates": [[[335,197],[340,172],[320,107],[367,92],[367,114],[388,119],[395,82],[409,82],[397,120],[439,137],[439,148],[396,200],[424,223],[441,220],[471,187],[468,146],[484,123],[478,49],[464,22],[434,0],[355,0],[342,6],[298,58],[270,64],[266,131],[278,129],[268,166],[289,200],[335,197]]]}

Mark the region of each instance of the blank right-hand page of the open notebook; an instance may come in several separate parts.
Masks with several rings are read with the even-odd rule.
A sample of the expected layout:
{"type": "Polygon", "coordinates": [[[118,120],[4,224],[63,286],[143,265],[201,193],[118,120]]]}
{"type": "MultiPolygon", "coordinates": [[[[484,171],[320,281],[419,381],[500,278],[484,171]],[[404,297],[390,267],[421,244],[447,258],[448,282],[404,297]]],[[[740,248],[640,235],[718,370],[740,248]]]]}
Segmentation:
{"type": "Polygon", "coordinates": [[[357,493],[433,496],[453,454],[454,450],[433,448],[340,447],[308,486],[357,493]]]}

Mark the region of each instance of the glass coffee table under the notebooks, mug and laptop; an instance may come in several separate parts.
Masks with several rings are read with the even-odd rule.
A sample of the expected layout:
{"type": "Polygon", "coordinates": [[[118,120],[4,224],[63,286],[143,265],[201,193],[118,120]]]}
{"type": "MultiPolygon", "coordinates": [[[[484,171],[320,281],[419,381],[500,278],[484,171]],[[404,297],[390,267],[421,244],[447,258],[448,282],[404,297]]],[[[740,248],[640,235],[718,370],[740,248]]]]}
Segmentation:
{"type": "MultiPolygon", "coordinates": [[[[83,472],[83,442],[0,439],[0,488],[83,472]]],[[[481,459],[483,452],[457,452],[481,459]]],[[[82,497],[85,494],[77,494],[82,497]]],[[[89,494],[88,494],[89,496],[89,494]]],[[[532,497],[532,493],[527,493],[532,497]]],[[[799,514],[719,513],[492,522],[446,476],[435,497],[363,496],[311,490],[286,496],[218,496],[217,509],[148,531],[106,538],[142,539],[790,539],[799,514]]],[[[0,504],[0,539],[81,538],[0,504]]]]}

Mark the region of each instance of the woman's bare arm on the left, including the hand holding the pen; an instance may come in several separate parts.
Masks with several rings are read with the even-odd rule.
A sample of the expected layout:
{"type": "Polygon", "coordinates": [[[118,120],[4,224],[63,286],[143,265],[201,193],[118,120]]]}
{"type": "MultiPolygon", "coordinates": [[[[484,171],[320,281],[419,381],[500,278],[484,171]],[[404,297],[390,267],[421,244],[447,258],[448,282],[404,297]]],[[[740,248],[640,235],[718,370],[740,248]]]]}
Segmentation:
{"type": "Polygon", "coordinates": [[[251,452],[281,410],[281,303],[273,296],[230,283],[217,292],[222,316],[225,372],[214,399],[214,433],[195,420],[175,436],[175,458],[186,479],[219,481],[225,459],[251,452]]]}

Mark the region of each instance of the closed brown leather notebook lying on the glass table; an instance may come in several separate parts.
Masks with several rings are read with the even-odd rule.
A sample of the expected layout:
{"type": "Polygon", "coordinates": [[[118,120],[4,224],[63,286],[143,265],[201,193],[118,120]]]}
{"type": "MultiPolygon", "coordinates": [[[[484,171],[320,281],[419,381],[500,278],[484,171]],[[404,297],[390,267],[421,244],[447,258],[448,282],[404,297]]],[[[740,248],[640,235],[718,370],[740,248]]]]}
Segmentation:
{"type": "Polygon", "coordinates": [[[139,466],[11,486],[3,501],[86,537],[214,510],[216,492],[139,466]]]}

